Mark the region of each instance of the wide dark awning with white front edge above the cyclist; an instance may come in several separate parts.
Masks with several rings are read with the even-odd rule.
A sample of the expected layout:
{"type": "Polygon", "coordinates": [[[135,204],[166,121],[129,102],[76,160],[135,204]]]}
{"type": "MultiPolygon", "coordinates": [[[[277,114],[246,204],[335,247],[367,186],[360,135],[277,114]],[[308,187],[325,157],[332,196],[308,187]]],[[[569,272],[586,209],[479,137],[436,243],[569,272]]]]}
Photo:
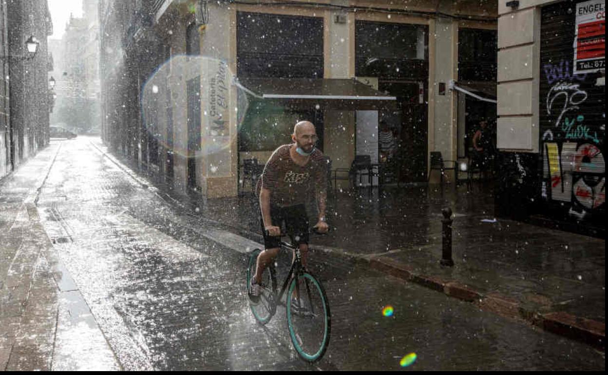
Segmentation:
{"type": "Polygon", "coordinates": [[[258,99],[279,101],[299,108],[343,111],[393,109],[396,97],[354,79],[239,78],[235,84],[258,99]]]}

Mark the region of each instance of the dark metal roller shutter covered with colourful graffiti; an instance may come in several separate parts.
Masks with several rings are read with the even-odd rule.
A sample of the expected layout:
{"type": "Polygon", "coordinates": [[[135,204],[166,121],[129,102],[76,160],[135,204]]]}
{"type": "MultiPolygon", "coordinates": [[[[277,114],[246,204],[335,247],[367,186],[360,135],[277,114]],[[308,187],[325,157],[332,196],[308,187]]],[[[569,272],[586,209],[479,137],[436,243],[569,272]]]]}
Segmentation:
{"type": "Polygon", "coordinates": [[[541,196],[545,215],[603,226],[605,86],[594,72],[575,74],[576,4],[542,9],[541,23],[541,196]]]}

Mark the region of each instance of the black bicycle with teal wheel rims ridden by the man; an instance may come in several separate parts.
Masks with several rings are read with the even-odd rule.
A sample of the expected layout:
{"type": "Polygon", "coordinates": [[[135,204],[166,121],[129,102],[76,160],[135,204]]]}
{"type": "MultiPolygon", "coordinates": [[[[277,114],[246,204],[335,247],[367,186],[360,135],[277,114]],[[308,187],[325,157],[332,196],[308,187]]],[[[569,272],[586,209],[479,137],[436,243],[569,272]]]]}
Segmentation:
{"type": "MultiPolygon", "coordinates": [[[[280,236],[283,237],[285,234],[280,236]]],[[[289,337],[295,351],[302,359],[316,362],[323,357],[330,342],[331,314],[327,295],[320,281],[302,265],[299,247],[281,241],[280,248],[295,252],[295,260],[291,264],[283,287],[277,294],[277,277],[273,262],[264,269],[262,275],[263,293],[260,302],[250,303],[250,308],[255,319],[265,325],[277,312],[278,304],[285,306],[289,337]],[[285,299],[289,300],[289,303],[283,302],[283,294],[286,290],[285,299]],[[305,293],[300,294],[301,291],[305,293]]],[[[255,275],[257,258],[261,251],[255,249],[249,255],[247,288],[255,275]]]]}

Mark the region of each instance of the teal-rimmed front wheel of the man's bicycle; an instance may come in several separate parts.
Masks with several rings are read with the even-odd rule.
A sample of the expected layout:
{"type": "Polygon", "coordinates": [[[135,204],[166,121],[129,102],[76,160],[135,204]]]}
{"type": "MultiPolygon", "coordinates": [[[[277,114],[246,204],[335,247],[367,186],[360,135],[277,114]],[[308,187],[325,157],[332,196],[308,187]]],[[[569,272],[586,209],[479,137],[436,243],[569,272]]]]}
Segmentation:
{"type": "Polygon", "coordinates": [[[331,327],[330,305],[320,281],[306,272],[294,277],[286,306],[295,351],[309,362],[319,360],[329,345],[331,327]]]}

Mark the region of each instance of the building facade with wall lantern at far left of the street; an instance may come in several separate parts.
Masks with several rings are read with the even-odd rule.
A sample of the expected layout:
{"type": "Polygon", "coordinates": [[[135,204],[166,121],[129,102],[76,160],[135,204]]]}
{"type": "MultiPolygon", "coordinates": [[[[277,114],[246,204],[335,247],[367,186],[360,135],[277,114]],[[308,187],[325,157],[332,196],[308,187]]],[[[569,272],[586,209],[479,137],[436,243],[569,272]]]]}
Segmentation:
{"type": "Polygon", "coordinates": [[[52,22],[46,1],[3,1],[0,6],[0,177],[49,142],[49,58],[52,22]],[[38,41],[34,55],[26,50],[38,41]]]}

